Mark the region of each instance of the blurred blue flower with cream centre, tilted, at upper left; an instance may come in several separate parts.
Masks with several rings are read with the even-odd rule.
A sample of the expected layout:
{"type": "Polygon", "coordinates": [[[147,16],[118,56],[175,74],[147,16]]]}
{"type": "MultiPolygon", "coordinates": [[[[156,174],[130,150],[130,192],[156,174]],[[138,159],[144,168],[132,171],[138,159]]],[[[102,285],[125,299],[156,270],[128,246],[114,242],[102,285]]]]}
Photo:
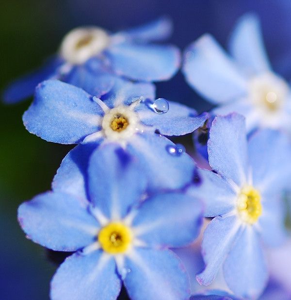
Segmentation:
{"type": "Polygon", "coordinates": [[[101,97],[116,76],[146,82],[171,78],[180,64],[179,50],[149,42],[165,39],[172,23],[160,18],[144,26],[110,34],[99,27],[80,27],[65,35],[58,54],[35,73],[12,83],[4,92],[6,103],[32,96],[36,85],[58,79],[101,97]]]}

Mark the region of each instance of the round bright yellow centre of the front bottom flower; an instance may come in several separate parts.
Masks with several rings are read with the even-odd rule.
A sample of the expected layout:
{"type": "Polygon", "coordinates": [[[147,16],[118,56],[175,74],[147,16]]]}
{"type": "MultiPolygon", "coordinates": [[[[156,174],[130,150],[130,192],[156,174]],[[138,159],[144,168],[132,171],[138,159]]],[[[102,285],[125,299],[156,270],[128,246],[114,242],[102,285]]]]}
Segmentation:
{"type": "Polygon", "coordinates": [[[98,233],[98,242],[102,249],[108,253],[124,253],[132,241],[129,227],[120,222],[109,223],[98,233]]]}

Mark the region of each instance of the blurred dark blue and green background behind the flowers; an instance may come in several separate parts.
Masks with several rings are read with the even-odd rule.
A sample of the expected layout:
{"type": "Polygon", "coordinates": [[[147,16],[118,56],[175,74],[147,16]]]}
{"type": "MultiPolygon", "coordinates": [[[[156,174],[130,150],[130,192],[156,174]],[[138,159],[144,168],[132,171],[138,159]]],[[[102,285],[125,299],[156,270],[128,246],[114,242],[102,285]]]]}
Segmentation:
{"type": "MultiPolygon", "coordinates": [[[[3,0],[0,89],[40,66],[76,26],[95,24],[114,32],[166,15],[174,21],[169,42],[180,49],[206,32],[226,46],[236,19],[250,11],[261,18],[274,69],[289,80],[290,0],[3,0]]],[[[199,112],[210,109],[180,73],[157,87],[157,98],[180,101],[199,112]]],[[[1,300],[49,299],[49,281],[57,267],[44,249],[25,238],[16,210],[22,201],[50,188],[62,158],[72,147],[48,143],[25,130],[21,117],[31,101],[0,104],[1,300]]]]}

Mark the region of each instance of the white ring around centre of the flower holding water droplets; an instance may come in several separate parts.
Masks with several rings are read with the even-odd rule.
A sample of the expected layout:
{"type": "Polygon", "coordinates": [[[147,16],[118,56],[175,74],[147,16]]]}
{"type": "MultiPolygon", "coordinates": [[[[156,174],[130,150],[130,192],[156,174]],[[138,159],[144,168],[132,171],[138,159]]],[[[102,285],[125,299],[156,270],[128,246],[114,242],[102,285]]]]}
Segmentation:
{"type": "Polygon", "coordinates": [[[126,106],[119,106],[114,107],[108,113],[105,114],[102,121],[102,128],[104,131],[105,136],[111,141],[120,141],[126,140],[131,135],[136,133],[139,130],[139,117],[137,113],[132,111],[129,107],[126,106]],[[114,119],[117,117],[122,116],[127,120],[127,125],[123,130],[113,130],[112,123],[114,119]]]}

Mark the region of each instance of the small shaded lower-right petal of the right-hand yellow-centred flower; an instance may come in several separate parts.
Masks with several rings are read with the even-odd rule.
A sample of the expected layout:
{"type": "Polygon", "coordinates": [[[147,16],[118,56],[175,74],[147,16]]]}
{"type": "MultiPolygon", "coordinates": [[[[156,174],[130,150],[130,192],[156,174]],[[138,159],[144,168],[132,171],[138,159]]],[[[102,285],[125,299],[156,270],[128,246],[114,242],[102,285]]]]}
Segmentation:
{"type": "Polygon", "coordinates": [[[281,246],[287,237],[284,228],[286,211],[283,199],[274,194],[268,196],[263,194],[261,203],[262,214],[258,220],[259,233],[266,245],[281,246]]]}

